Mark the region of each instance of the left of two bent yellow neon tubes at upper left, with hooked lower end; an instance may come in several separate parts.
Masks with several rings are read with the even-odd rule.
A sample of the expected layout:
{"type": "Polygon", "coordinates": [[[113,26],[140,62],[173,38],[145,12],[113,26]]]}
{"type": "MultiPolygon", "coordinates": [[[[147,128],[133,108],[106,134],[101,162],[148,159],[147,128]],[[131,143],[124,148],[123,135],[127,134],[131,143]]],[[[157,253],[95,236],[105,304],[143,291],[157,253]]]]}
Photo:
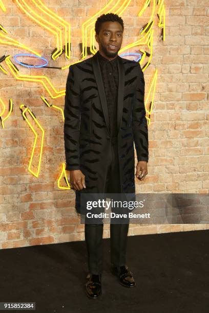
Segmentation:
{"type": "Polygon", "coordinates": [[[37,24],[43,26],[44,28],[48,29],[48,31],[50,31],[51,33],[53,33],[56,36],[57,39],[57,49],[56,51],[53,53],[52,55],[52,59],[55,60],[58,56],[60,56],[62,54],[62,38],[61,38],[61,31],[58,27],[56,27],[55,25],[51,24],[48,20],[45,20],[43,17],[41,17],[40,15],[38,15],[35,11],[32,10],[32,8],[30,6],[27,5],[27,3],[25,2],[25,0],[16,0],[16,3],[18,4],[18,6],[30,17],[32,18],[34,21],[36,21],[37,24]],[[39,19],[43,20],[45,23],[49,24],[52,28],[55,28],[57,30],[57,32],[59,32],[59,38],[58,38],[58,34],[57,32],[55,32],[54,30],[52,30],[51,28],[49,28],[48,26],[46,26],[45,24],[41,23],[38,19],[36,19],[35,17],[33,17],[20,3],[19,1],[22,1],[24,3],[24,5],[28,8],[29,12],[32,12],[35,16],[37,16],[39,19]],[[60,48],[59,48],[60,47],[60,48]]]}

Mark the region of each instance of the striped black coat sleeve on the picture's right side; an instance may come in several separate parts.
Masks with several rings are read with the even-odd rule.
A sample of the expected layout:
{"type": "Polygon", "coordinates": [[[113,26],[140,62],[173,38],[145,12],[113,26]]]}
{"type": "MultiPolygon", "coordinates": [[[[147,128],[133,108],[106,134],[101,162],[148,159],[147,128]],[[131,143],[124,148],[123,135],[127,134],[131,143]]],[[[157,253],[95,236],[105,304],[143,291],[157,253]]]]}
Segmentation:
{"type": "Polygon", "coordinates": [[[135,101],[133,106],[133,133],[134,144],[138,161],[149,160],[148,143],[148,124],[145,118],[146,111],[144,106],[144,75],[141,66],[138,66],[138,80],[136,86],[135,101]]]}

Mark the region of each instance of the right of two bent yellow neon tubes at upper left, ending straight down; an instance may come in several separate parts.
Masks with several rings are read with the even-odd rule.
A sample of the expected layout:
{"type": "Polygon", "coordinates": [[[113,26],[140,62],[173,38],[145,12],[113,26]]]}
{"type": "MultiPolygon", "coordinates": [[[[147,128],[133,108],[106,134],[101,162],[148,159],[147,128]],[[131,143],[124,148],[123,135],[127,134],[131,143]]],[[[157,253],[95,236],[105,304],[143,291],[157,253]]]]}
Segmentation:
{"type": "Polygon", "coordinates": [[[62,26],[65,27],[65,54],[66,54],[66,57],[68,59],[70,59],[70,29],[71,29],[71,26],[70,24],[65,20],[65,19],[62,19],[60,16],[58,16],[56,13],[54,13],[53,11],[51,11],[49,8],[47,8],[43,2],[41,2],[41,0],[32,0],[33,3],[41,10],[43,11],[45,14],[47,14],[48,16],[50,16],[51,18],[53,18],[54,20],[57,21],[57,23],[61,24],[62,26]],[[43,6],[44,9],[42,9],[38,4],[37,4],[37,1],[39,2],[39,4],[41,6],[43,6]],[[48,12],[46,12],[48,11],[48,12]],[[68,28],[68,35],[67,35],[67,28],[68,28]],[[69,42],[69,50],[68,50],[68,43],[69,42]]]}

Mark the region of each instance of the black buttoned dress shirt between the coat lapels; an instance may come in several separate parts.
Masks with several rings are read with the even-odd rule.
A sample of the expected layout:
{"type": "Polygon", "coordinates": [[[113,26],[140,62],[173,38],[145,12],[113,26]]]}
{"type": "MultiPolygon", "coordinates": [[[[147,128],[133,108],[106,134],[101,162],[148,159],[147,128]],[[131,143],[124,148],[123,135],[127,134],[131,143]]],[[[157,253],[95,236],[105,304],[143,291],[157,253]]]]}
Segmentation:
{"type": "Polygon", "coordinates": [[[118,56],[113,60],[97,53],[108,104],[111,137],[117,136],[118,56]]]}

